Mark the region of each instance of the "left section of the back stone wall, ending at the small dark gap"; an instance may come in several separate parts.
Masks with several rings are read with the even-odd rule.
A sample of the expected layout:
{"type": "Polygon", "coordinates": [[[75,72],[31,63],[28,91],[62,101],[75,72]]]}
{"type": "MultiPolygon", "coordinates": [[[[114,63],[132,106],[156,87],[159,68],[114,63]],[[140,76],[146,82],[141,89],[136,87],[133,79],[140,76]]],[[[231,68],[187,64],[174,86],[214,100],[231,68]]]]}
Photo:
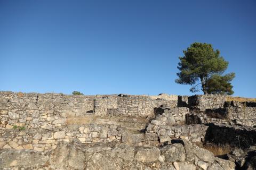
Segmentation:
{"type": "Polygon", "coordinates": [[[91,111],[92,96],[0,92],[2,128],[16,125],[53,129],[65,124],[67,115],[81,116],[91,111]]]}

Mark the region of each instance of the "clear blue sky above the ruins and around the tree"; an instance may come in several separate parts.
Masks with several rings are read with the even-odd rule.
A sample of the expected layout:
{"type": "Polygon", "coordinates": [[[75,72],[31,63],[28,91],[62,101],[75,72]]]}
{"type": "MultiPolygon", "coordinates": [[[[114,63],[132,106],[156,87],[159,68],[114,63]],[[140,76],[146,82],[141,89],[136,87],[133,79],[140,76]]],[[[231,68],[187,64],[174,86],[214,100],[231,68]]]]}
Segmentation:
{"type": "Polygon", "coordinates": [[[191,95],[178,57],[213,44],[256,97],[256,1],[0,0],[0,90],[191,95]]]}

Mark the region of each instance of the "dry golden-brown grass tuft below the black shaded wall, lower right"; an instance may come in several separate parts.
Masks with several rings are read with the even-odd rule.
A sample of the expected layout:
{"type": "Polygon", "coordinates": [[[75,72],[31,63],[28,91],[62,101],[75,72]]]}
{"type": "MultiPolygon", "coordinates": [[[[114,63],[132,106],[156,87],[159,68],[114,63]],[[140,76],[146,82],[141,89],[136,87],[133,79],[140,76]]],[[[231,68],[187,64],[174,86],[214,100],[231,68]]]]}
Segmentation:
{"type": "Polygon", "coordinates": [[[214,156],[222,156],[225,154],[229,154],[230,151],[233,149],[230,145],[215,145],[213,143],[203,143],[199,145],[199,147],[209,150],[214,154],[214,156]]]}

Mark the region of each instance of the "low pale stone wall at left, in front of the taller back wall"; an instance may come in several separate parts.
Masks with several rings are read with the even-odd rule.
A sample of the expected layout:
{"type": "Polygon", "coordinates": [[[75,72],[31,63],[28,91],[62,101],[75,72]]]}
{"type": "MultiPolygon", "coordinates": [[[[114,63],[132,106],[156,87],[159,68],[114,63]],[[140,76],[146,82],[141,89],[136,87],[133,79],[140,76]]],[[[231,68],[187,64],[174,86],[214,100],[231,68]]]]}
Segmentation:
{"type": "Polygon", "coordinates": [[[58,142],[97,143],[121,141],[123,130],[116,125],[87,124],[61,129],[9,129],[0,130],[0,148],[47,151],[58,142]]]}

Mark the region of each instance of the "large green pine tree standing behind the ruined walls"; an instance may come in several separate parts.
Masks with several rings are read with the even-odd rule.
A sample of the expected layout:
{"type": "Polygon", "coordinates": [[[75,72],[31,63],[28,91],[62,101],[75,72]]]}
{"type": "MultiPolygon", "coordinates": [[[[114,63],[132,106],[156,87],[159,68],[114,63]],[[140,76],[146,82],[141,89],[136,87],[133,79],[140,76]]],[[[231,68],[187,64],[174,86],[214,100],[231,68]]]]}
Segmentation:
{"type": "Polygon", "coordinates": [[[179,57],[178,69],[180,70],[179,84],[189,84],[191,92],[202,90],[204,94],[233,94],[233,86],[230,81],[235,73],[222,76],[228,67],[228,62],[220,56],[219,50],[214,50],[211,44],[193,43],[187,50],[183,51],[184,56],[179,57]],[[198,89],[201,85],[201,89],[198,89]]]}

